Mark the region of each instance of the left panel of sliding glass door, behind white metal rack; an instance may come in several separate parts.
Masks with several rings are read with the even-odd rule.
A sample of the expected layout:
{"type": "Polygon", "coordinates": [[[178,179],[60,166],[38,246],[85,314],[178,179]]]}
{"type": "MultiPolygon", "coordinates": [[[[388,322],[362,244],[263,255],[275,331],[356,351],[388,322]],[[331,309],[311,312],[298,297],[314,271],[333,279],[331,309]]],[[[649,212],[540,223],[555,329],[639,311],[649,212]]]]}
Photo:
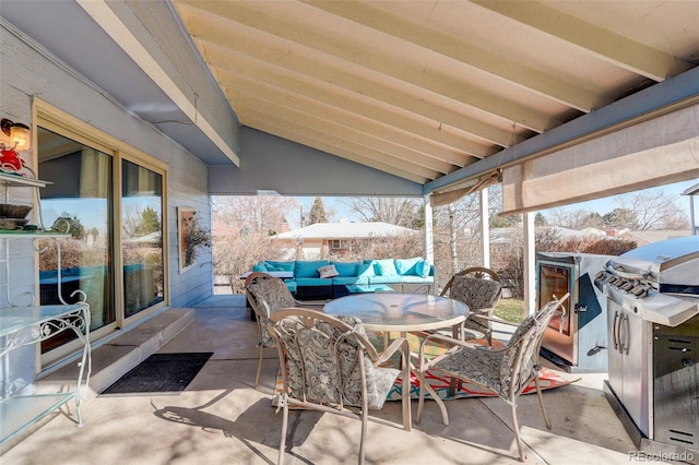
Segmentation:
{"type": "MultiPolygon", "coordinates": [[[[112,156],[38,128],[38,159],[39,178],[49,181],[40,192],[43,226],[71,236],[43,241],[40,303],[74,302],[80,289],[90,303],[91,331],[115,323],[112,156]]],[[[74,338],[68,333],[46,341],[42,350],[74,338]]]]}

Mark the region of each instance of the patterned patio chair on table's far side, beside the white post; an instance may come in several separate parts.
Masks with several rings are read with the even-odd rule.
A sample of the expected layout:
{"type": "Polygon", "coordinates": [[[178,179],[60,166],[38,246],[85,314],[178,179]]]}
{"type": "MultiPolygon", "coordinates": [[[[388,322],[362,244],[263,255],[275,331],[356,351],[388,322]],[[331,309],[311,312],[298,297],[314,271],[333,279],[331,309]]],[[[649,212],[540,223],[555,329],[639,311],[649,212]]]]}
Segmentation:
{"type": "MultiPolygon", "coordinates": [[[[483,334],[489,346],[493,345],[493,311],[502,297],[502,285],[496,272],[483,266],[474,266],[454,274],[442,289],[440,296],[460,300],[469,306],[469,318],[464,329],[483,334]]],[[[463,338],[475,338],[466,337],[463,338]]]]}

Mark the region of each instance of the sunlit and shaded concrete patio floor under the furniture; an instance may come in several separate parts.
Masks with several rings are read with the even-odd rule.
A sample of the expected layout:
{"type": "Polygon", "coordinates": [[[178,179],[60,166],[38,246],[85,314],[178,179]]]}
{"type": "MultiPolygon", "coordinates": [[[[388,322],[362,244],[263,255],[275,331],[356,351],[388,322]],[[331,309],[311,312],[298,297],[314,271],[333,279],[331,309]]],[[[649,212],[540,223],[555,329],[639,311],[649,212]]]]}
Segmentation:
{"type": "MultiPolygon", "coordinates": [[[[260,385],[254,389],[257,329],[249,319],[244,296],[214,296],[187,314],[191,321],[162,344],[115,339],[109,347],[96,349],[91,382],[93,390],[102,390],[102,386],[95,388],[95,383],[107,382],[104,373],[109,370],[105,367],[115,365],[107,361],[110,356],[106,354],[126,351],[127,346],[143,359],[153,351],[146,349],[149,344],[156,344],[153,349],[159,347],[161,353],[214,351],[185,392],[161,396],[97,395],[83,404],[85,425],[82,428],[75,427],[74,406],[69,404],[0,456],[0,462],[3,465],[276,463],[282,426],[281,415],[275,415],[271,405],[276,353],[268,351],[260,385]]],[[[149,329],[147,323],[143,326],[142,333],[162,334],[149,329]]],[[[536,395],[520,397],[518,416],[526,463],[627,464],[632,461],[629,451],[636,448],[602,392],[606,373],[561,372],[561,375],[580,380],[544,392],[553,422],[550,431],[544,425],[536,395]]],[[[367,463],[519,463],[505,402],[457,400],[449,401],[447,408],[450,425],[443,426],[437,405],[427,401],[422,421],[410,432],[400,425],[400,402],[388,402],[382,410],[372,412],[371,416],[382,421],[369,422],[367,463]]],[[[413,418],[416,410],[415,401],[413,418]]],[[[292,412],[286,463],[356,463],[359,433],[360,424],[356,420],[315,412],[292,412]]]]}

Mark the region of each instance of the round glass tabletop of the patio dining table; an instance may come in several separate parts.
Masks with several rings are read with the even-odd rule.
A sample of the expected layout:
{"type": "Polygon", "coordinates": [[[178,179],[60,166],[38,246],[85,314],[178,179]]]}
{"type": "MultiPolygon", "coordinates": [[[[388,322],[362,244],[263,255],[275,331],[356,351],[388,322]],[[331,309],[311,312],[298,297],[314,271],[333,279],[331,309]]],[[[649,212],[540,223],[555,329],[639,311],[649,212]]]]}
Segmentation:
{"type": "Polygon", "coordinates": [[[429,331],[453,326],[469,315],[459,300],[424,294],[357,294],[325,305],[333,317],[357,317],[369,331],[429,331]]]}

